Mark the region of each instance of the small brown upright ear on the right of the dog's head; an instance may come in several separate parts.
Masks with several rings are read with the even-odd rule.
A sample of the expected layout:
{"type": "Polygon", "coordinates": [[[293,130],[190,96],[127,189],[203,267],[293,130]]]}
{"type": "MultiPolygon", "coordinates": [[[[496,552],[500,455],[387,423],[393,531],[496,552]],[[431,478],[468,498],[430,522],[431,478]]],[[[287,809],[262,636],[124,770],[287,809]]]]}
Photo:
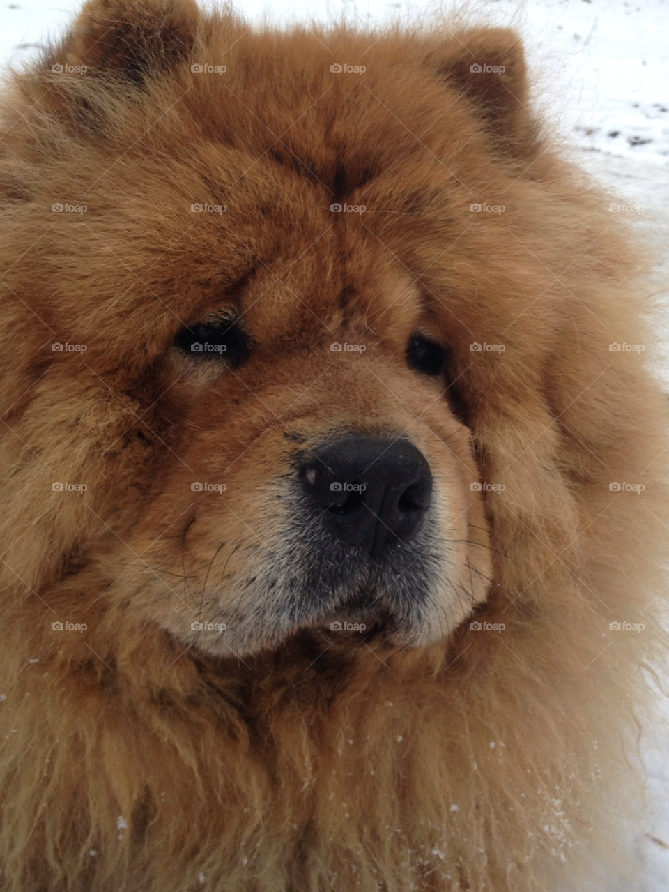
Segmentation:
{"type": "Polygon", "coordinates": [[[525,54],[518,34],[505,28],[461,31],[430,53],[428,62],[469,99],[505,151],[521,154],[534,144],[525,54]]]}

